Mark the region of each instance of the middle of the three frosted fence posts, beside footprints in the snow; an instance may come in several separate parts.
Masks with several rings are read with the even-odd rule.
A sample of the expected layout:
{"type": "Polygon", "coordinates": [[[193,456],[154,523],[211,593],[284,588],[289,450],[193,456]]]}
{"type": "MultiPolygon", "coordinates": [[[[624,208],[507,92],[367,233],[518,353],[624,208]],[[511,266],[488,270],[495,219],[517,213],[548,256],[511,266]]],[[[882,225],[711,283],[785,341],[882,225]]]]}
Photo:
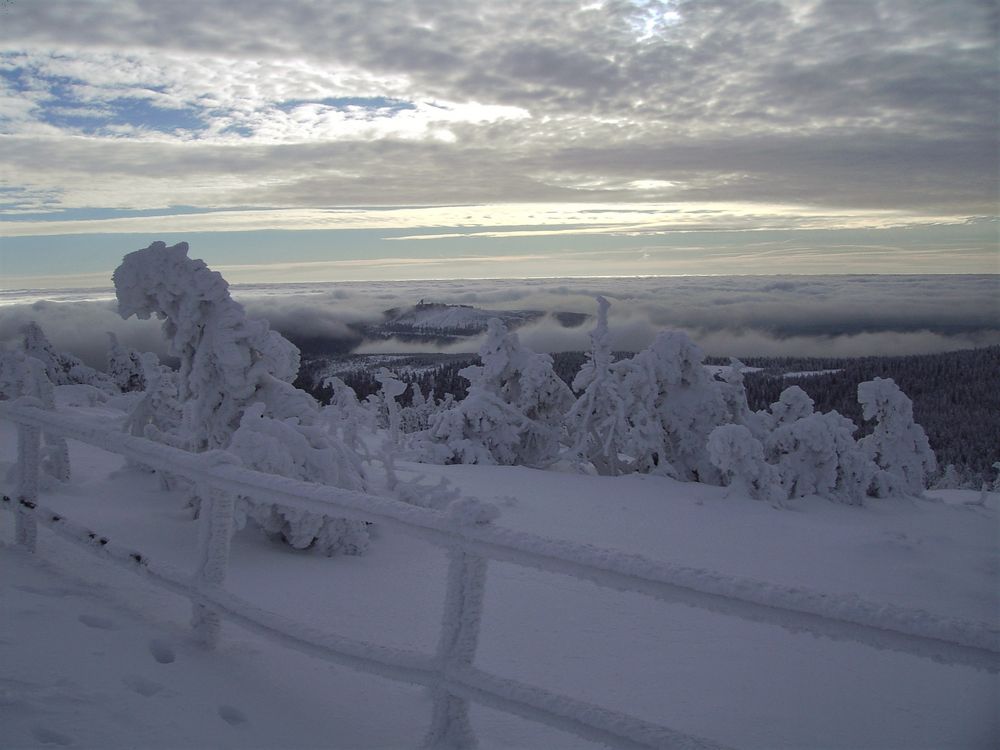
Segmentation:
{"type": "MultiPolygon", "coordinates": [[[[233,532],[236,497],[229,492],[201,487],[200,560],[195,572],[196,584],[221,585],[229,568],[229,542],[233,532]]],[[[191,625],[198,639],[208,648],[219,642],[222,618],[211,607],[197,601],[191,613],[191,625]]]]}

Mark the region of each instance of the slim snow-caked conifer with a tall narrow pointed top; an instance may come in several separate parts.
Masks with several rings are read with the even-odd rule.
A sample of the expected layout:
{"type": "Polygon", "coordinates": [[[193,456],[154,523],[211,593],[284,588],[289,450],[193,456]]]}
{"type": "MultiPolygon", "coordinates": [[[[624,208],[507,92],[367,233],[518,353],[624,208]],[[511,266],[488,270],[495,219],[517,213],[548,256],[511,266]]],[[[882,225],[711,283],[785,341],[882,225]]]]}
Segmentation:
{"type": "Polygon", "coordinates": [[[620,377],[611,361],[611,334],[604,297],[597,298],[597,325],[590,332],[591,350],[573,379],[580,393],[566,415],[566,430],[574,455],[593,464],[598,474],[617,475],[630,467],[623,461],[623,442],[629,431],[620,377]]]}

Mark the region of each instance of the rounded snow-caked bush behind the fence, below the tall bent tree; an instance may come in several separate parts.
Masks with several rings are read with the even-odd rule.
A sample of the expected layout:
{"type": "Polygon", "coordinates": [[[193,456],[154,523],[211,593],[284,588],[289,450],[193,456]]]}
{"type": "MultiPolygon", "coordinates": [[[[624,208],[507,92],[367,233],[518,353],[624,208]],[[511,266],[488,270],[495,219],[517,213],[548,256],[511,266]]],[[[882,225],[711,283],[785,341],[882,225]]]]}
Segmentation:
{"type": "MultiPolygon", "coordinates": [[[[358,457],[336,443],[319,426],[297,419],[272,419],[264,404],[247,407],[233,433],[229,451],[245,466],[292,479],[363,490],[358,457]]],[[[327,555],[357,555],[368,548],[364,521],[306,513],[269,503],[244,501],[246,515],[267,534],[278,535],[295,549],[315,546],[327,555]]]]}

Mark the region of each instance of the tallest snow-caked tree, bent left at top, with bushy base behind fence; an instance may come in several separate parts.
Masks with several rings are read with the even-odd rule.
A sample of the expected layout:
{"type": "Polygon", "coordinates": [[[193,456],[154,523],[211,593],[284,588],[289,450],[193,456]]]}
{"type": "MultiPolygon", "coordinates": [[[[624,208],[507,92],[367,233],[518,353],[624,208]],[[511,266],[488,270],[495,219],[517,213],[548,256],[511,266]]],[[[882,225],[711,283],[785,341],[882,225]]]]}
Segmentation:
{"type": "MultiPolygon", "coordinates": [[[[232,448],[259,471],[287,470],[300,479],[359,486],[363,480],[355,457],[321,425],[316,401],[291,384],[298,372],[298,349],[266,321],[248,318],[225,279],[187,252],[185,242],[173,247],[154,242],[126,255],[113,276],[121,316],[163,320],[168,351],[180,359],[180,425],[164,437],[194,451],[232,448]],[[245,414],[252,416],[246,424],[245,414]],[[316,458],[316,451],[325,459],[316,458]]],[[[297,547],[309,546],[311,534],[327,551],[362,549],[353,522],[318,523],[309,514],[271,504],[258,505],[252,515],[283,518],[282,535],[297,547]],[[335,532],[344,535],[341,542],[335,532]]]]}

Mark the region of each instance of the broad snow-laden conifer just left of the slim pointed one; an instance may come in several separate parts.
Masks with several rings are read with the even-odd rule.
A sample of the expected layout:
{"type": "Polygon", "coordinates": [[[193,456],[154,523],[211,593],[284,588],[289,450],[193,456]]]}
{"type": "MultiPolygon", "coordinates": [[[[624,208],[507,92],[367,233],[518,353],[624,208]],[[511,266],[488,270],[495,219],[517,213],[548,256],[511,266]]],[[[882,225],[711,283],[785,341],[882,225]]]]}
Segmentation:
{"type": "Polygon", "coordinates": [[[421,437],[425,460],[537,466],[559,453],[562,421],[573,402],[552,358],[521,346],[492,319],[479,350],[481,366],[462,369],[469,394],[439,412],[421,437]]]}

